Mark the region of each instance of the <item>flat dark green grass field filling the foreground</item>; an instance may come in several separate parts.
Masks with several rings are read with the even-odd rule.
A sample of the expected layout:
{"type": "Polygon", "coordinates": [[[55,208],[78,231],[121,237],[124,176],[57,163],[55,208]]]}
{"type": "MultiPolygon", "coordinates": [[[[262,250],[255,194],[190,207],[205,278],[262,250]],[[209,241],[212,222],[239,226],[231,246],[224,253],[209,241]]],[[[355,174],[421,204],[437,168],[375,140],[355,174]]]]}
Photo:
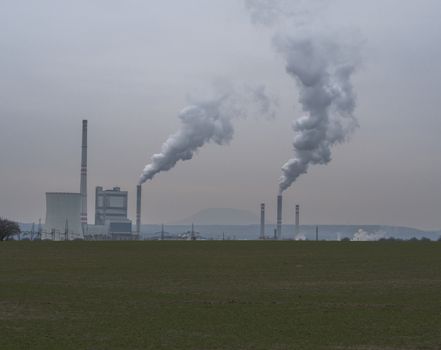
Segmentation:
{"type": "Polygon", "coordinates": [[[441,243],[5,242],[0,349],[441,349],[441,243]]]}

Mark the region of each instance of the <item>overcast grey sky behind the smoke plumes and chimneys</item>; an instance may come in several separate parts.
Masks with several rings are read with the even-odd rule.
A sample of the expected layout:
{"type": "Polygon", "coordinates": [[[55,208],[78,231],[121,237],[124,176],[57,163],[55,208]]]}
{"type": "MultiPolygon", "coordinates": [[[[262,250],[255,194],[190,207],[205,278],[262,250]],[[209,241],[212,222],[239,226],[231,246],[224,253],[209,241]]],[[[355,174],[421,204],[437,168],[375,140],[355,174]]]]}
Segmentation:
{"type": "MultiPolygon", "coordinates": [[[[317,25],[356,33],[359,128],[284,193],[284,221],[441,228],[441,2],[322,0],[317,25]]],[[[265,86],[274,118],[234,118],[228,145],[143,185],[144,223],[213,207],[275,218],[281,166],[293,156],[299,89],[239,0],[0,0],[0,216],[44,221],[45,192],[78,192],[81,120],[94,188],[129,191],[213,82],[265,86]]]]}

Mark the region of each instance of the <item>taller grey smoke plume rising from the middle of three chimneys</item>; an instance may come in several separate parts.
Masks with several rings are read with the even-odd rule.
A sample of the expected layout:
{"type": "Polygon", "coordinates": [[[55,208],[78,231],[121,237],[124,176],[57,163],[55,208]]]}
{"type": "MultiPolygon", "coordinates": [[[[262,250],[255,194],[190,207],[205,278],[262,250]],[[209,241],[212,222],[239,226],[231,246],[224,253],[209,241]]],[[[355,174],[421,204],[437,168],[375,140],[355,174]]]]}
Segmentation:
{"type": "Polygon", "coordinates": [[[346,141],[358,126],[351,77],[359,63],[359,41],[308,25],[311,5],[319,3],[246,0],[253,22],[277,25],[273,45],[299,87],[303,108],[293,123],[294,157],[282,166],[280,193],[310,165],[330,162],[332,146],[346,141]]]}

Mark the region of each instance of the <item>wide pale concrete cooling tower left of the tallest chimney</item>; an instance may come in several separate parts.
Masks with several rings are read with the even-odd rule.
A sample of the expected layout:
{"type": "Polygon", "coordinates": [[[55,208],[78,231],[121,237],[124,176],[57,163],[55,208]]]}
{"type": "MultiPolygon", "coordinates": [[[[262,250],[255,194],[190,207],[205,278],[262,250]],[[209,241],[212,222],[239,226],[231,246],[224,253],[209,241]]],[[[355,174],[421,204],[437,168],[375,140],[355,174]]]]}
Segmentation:
{"type": "Polygon", "coordinates": [[[47,192],[45,231],[64,233],[67,224],[69,234],[81,235],[81,200],[80,193],[47,192]]]}

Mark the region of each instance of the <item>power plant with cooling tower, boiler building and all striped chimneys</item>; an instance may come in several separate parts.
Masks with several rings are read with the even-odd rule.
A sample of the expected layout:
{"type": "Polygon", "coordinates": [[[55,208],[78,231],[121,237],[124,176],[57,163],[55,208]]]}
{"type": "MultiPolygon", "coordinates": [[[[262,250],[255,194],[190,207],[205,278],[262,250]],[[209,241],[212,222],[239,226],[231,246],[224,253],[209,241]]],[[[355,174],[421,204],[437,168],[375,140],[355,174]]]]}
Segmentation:
{"type": "MultiPolygon", "coordinates": [[[[95,188],[95,222],[87,215],[87,120],[82,121],[81,171],[79,193],[47,192],[46,220],[39,230],[41,239],[50,240],[138,240],[141,236],[141,185],[136,187],[136,222],[128,218],[128,192],[120,187],[95,188]]],[[[277,224],[274,236],[265,232],[265,204],[260,205],[259,239],[283,239],[282,195],[277,196],[277,224]]],[[[294,237],[299,234],[299,205],[296,205],[294,237]]],[[[191,232],[194,232],[194,228],[191,232]]],[[[189,239],[197,235],[189,234],[189,239]]],[[[291,235],[290,235],[291,236],[291,235]]],[[[164,234],[161,235],[164,237],[164,234]]]]}

